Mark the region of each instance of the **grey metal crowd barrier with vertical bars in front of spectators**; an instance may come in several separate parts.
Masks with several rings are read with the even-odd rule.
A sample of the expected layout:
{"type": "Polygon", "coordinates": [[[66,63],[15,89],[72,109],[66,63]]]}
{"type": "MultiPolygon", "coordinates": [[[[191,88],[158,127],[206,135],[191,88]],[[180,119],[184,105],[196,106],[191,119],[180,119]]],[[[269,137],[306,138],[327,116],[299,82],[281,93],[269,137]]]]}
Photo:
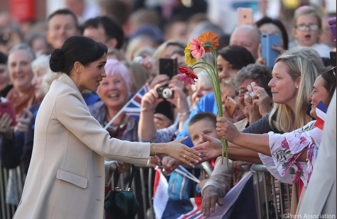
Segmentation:
{"type": "MultiPolygon", "coordinates": [[[[191,171],[193,175],[195,175],[195,171],[200,171],[202,170],[202,174],[208,174],[209,176],[212,174],[212,167],[209,163],[204,162],[200,165],[197,166],[185,166],[184,167],[191,171]]],[[[141,197],[142,197],[142,202],[143,202],[143,214],[137,214],[135,219],[152,219],[155,218],[154,211],[153,211],[153,203],[152,203],[152,196],[153,196],[153,184],[154,184],[154,178],[153,175],[155,173],[154,169],[149,167],[149,166],[136,166],[139,170],[139,176],[135,175],[136,177],[139,177],[139,180],[141,182],[141,191],[136,190],[135,183],[132,184],[132,191],[135,193],[136,197],[139,197],[139,192],[141,192],[141,197]],[[145,175],[148,174],[148,178],[146,179],[145,175]],[[146,188],[146,182],[147,182],[147,188],[146,188]],[[147,191],[146,191],[147,190],[147,191]],[[147,200],[148,199],[148,200],[147,200]],[[150,215],[147,215],[147,213],[150,213],[150,215]]],[[[286,194],[287,197],[290,197],[290,190],[289,190],[289,185],[286,184],[285,186],[285,191],[284,189],[284,184],[279,183],[279,199],[280,199],[280,211],[278,211],[277,208],[277,203],[276,203],[276,191],[275,191],[275,184],[274,184],[274,177],[268,172],[267,168],[263,164],[252,164],[251,166],[246,166],[244,170],[241,171],[241,175],[243,175],[243,172],[247,170],[253,170],[255,173],[256,179],[259,179],[262,176],[263,179],[263,193],[264,197],[261,197],[261,191],[260,191],[260,185],[259,185],[259,180],[257,180],[257,206],[258,206],[258,212],[257,212],[257,217],[259,219],[270,219],[269,215],[269,201],[273,201],[274,203],[274,210],[276,212],[276,218],[282,218],[281,216],[284,214],[284,206],[285,206],[285,200],[284,200],[284,195],[286,194]],[[271,179],[271,182],[269,180],[271,179]],[[271,190],[267,189],[271,184],[271,190]],[[271,199],[270,196],[273,194],[273,198],[271,199]],[[267,200],[266,205],[265,205],[265,212],[262,212],[261,206],[264,204],[262,202],[262,199],[267,200]]],[[[0,165],[0,218],[1,219],[12,219],[17,205],[19,204],[19,201],[21,199],[22,191],[23,191],[23,186],[24,186],[24,179],[25,176],[23,174],[23,171],[20,167],[17,167],[15,169],[11,169],[11,174],[13,177],[12,182],[14,182],[12,188],[14,188],[14,192],[12,191],[11,194],[14,194],[14,197],[12,197],[12,200],[15,199],[14,202],[16,204],[7,204],[6,202],[6,195],[7,195],[7,186],[8,186],[8,177],[9,177],[9,170],[2,168],[0,165]]],[[[240,176],[240,174],[239,174],[240,176]]],[[[120,178],[121,181],[123,181],[123,178],[120,178]]],[[[234,185],[238,182],[237,175],[234,174],[233,176],[234,180],[234,185]]],[[[136,182],[134,179],[133,182],[136,182]]],[[[122,186],[125,187],[127,182],[121,182],[122,186]]],[[[195,188],[196,184],[193,182],[193,188],[195,188]]],[[[112,185],[113,187],[113,185],[112,185]]],[[[297,186],[293,186],[294,194],[295,195],[295,205],[297,206],[298,203],[298,191],[297,191],[297,186]]],[[[196,192],[194,189],[194,195],[196,197],[196,192]]],[[[293,197],[294,198],[294,197],[293,197]]],[[[288,204],[289,206],[289,211],[290,211],[290,202],[288,204]]]]}

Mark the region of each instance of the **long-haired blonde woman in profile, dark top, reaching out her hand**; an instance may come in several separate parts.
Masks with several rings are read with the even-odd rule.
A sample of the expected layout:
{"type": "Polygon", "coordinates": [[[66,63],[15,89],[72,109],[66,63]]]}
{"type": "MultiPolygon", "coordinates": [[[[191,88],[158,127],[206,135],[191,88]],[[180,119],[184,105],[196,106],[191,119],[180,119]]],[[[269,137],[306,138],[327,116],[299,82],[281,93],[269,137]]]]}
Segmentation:
{"type": "MultiPolygon", "coordinates": [[[[312,91],[313,84],[318,76],[318,70],[323,67],[319,54],[310,48],[297,48],[286,51],[277,60],[272,71],[271,87],[274,108],[270,114],[257,120],[243,133],[264,134],[270,131],[283,134],[299,129],[312,119],[306,115],[309,106],[308,96],[312,91]],[[290,115],[288,115],[290,114],[290,115]]],[[[247,91],[246,95],[247,95],[247,91]]],[[[255,91],[253,98],[258,98],[255,91]]],[[[203,160],[214,159],[221,156],[222,144],[204,135],[206,143],[194,147],[195,150],[202,149],[203,160]],[[218,146],[215,146],[218,145],[218,146]]],[[[228,158],[246,162],[256,162],[259,159],[257,152],[246,149],[232,143],[229,144],[228,158]]],[[[288,200],[289,197],[284,197],[288,200]]],[[[294,205],[295,206],[295,205],[294,205]]],[[[285,206],[285,213],[289,212],[285,206]]]]}

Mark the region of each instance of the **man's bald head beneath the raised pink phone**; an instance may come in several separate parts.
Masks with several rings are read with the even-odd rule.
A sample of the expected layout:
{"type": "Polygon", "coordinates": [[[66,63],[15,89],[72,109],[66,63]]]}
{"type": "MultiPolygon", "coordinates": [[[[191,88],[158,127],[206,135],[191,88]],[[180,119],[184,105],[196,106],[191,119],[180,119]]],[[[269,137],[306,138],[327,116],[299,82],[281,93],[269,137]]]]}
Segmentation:
{"type": "Polygon", "coordinates": [[[229,40],[229,45],[241,45],[246,48],[256,60],[258,44],[261,43],[261,32],[252,25],[236,27],[229,40]]]}

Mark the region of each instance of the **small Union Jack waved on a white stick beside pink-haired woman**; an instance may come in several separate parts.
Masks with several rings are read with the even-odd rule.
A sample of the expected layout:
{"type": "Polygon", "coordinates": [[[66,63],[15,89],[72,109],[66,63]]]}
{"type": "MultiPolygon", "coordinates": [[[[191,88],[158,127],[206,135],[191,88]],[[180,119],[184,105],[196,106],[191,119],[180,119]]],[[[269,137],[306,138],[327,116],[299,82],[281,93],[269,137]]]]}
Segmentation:
{"type": "Polygon", "coordinates": [[[150,82],[147,82],[121,109],[128,116],[133,117],[135,120],[139,121],[141,114],[141,102],[144,94],[150,91],[150,82]]]}

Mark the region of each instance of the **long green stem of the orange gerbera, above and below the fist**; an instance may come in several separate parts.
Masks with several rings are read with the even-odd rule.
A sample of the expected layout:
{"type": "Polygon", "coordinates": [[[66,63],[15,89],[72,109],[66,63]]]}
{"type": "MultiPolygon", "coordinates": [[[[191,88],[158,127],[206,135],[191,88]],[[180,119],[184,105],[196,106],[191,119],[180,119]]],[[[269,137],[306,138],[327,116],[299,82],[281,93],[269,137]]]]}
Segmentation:
{"type": "MultiPolygon", "coordinates": [[[[216,82],[218,84],[218,86],[215,86],[215,89],[214,89],[214,93],[215,93],[215,97],[216,97],[216,102],[217,102],[217,105],[218,105],[218,113],[219,113],[219,117],[223,117],[223,111],[222,111],[222,100],[221,100],[221,91],[220,91],[220,80],[219,80],[219,72],[218,72],[218,62],[217,62],[217,59],[216,59],[216,52],[215,52],[215,49],[212,45],[204,45],[205,48],[210,48],[211,49],[211,52],[212,52],[212,55],[214,57],[214,61],[215,61],[215,69],[216,71],[214,71],[215,73],[215,79],[216,79],[216,82]]],[[[206,60],[205,60],[206,61],[206,60]]],[[[212,66],[213,67],[213,66],[212,66]]],[[[227,163],[227,169],[229,168],[228,166],[228,152],[227,152],[227,149],[228,149],[228,142],[227,140],[225,140],[223,137],[221,137],[221,142],[222,142],[222,155],[221,155],[221,164],[223,164],[223,157],[224,157],[224,153],[226,151],[226,163],[227,163]]]]}

